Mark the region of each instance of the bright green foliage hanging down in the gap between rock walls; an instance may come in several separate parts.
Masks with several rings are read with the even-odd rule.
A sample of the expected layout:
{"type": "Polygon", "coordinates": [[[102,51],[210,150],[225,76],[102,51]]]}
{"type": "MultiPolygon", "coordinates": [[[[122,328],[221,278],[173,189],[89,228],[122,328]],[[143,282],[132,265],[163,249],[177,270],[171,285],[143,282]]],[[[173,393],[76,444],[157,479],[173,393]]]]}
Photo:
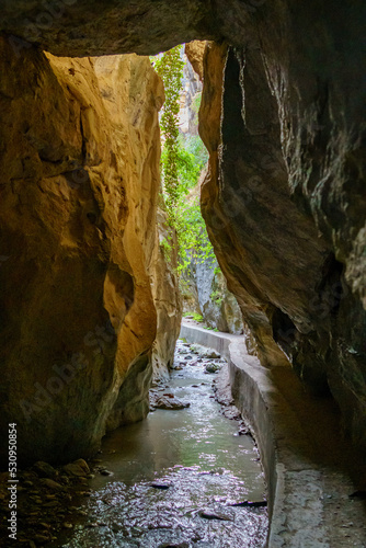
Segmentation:
{"type": "MultiPolygon", "coordinates": [[[[193,197],[188,196],[207,163],[208,152],[198,135],[184,136],[179,133],[183,67],[181,46],[170,49],[155,60],[155,68],[163,80],[165,91],[165,103],[160,119],[163,135],[161,174],[168,222],[176,230],[178,236],[179,272],[186,269],[192,260],[204,261],[214,256],[201,215],[198,197],[194,197],[194,194],[193,197]]],[[[196,114],[199,103],[201,94],[195,98],[193,104],[196,114]]],[[[164,250],[168,256],[167,244],[164,250]]]]}

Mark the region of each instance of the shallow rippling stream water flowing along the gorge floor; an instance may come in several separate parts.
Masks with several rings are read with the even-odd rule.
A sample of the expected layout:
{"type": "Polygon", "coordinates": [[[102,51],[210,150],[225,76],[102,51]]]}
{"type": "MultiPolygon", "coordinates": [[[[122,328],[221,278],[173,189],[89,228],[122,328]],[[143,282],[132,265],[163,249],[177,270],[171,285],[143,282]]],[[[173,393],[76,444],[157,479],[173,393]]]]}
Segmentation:
{"type": "Polygon", "coordinates": [[[256,449],[250,437],[235,435],[238,423],[222,416],[211,398],[215,375],[192,363],[173,372],[169,388],[161,389],[188,401],[190,408],[156,410],[104,438],[100,465],[113,475],[91,480],[85,517],[76,520],[75,530],[57,546],[263,546],[266,509],[229,506],[265,495],[256,449]],[[170,487],[155,489],[152,480],[170,487]],[[202,510],[221,520],[204,518],[202,510]]]}

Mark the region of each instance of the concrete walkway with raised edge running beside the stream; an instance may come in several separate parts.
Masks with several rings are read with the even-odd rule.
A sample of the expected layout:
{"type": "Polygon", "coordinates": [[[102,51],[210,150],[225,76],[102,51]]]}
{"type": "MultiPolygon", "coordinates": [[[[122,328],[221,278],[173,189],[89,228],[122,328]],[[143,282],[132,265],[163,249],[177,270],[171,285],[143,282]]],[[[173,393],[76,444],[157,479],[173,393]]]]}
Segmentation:
{"type": "Polygon", "coordinates": [[[290,368],[261,366],[243,336],[183,321],[181,336],[228,358],[232,396],[255,434],[267,490],[270,548],[366,547],[365,455],[342,438],[334,401],[313,398],[290,368]]]}

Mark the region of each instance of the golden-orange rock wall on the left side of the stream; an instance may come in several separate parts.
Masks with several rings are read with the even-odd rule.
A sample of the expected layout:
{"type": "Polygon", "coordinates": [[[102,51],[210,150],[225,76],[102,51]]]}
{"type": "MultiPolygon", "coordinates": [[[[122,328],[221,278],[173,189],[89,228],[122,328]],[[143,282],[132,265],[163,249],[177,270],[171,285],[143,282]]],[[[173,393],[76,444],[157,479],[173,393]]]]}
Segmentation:
{"type": "Polygon", "coordinates": [[[135,55],[0,64],[2,438],[70,460],[148,411],[163,90],[135,55]]]}

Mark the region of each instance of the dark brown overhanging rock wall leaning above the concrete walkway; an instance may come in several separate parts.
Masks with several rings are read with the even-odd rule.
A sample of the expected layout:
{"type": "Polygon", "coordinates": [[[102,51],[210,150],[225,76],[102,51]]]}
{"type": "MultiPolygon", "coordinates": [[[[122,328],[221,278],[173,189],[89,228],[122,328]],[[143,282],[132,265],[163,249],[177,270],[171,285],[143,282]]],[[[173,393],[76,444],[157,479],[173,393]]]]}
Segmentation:
{"type": "MultiPolygon", "coordinates": [[[[361,134],[341,130],[338,100],[320,90],[299,118],[295,98],[290,104],[289,91],[279,91],[285,76],[256,46],[245,54],[210,46],[205,64],[201,134],[210,170],[202,206],[229,288],[262,363],[284,363],[275,341],[316,392],[330,388],[354,442],[366,445],[366,315],[350,286],[339,235],[351,219],[336,197],[351,213],[348,163],[357,163],[361,134]]],[[[301,95],[310,100],[309,90],[301,95]]],[[[351,264],[363,235],[354,222],[351,264]]]]}

